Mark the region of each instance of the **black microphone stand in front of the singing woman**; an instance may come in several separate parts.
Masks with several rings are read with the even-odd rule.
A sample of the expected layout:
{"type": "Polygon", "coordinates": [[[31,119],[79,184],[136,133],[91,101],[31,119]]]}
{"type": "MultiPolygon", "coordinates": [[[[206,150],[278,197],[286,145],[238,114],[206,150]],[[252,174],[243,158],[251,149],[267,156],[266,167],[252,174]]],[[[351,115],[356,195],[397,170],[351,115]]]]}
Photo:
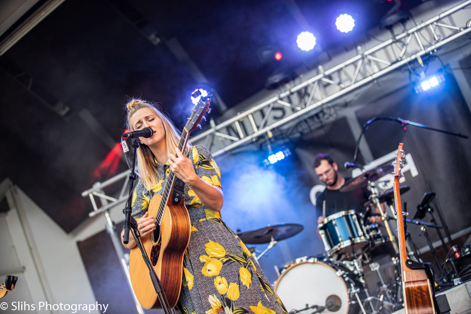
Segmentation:
{"type": "Polygon", "coordinates": [[[126,203],[126,209],[125,209],[126,220],[124,222],[124,234],[122,236],[123,237],[122,242],[124,244],[129,243],[129,232],[130,232],[130,228],[132,228],[132,230],[134,231],[132,233],[132,236],[133,236],[134,241],[136,242],[139,250],[142,253],[142,258],[144,258],[144,262],[146,263],[147,268],[149,268],[149,275],[150,275],[152,284],[154,285],[154,290],[157,293],[157,296],[159,297],[159,301],[160,301],[160,304],[163,308],[163,311],[165,312],[165,314],[171,314],[171,308],[170,308],[169,302],[167,300],[167,297],[165,296],[165,292],[162,289],[162,283],[160,282],[159,277],[155,273],[154,267],[152,267],[152,264],[151,264],[147,254],[146,254],[146,249],[144,248],[144,245],[142,244],[141,235],[138,231],[138,224],[137,224],[136,220],[131,217],[131,212],[132,212],[131,197],[132,197],[132,191],[133,191],[133,188],[134,188],[134,181],[137,178],[136,172],[134,170],[135,170],[135,167],[136,167],[136,154],[137,154],[138,147],[139,147],[139,141],[138,141],[137,138],[132,138],[131,141],[132,141],[132,147],[134,148],[134,157],[133,157],[133,160],[132,160],[132,170],[131,170],[131,173],[129,175],[129,180],[130,180],[130,183],[129,183],[129,197],[128,197],[128,202],[126,203]]]}

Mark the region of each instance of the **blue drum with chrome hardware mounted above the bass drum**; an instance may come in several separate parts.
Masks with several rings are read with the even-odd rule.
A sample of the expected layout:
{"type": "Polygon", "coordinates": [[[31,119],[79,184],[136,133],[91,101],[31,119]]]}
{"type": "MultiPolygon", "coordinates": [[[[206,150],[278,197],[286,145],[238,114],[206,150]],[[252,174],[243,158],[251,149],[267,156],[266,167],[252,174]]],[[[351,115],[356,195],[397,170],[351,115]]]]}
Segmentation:
{"type": "Polygon", "coordinates": [[[355,210],[340,211],[330,215],[318,225],[327,255],[359,254],[368,245],[368,235],[358,223],[355,210]]]}

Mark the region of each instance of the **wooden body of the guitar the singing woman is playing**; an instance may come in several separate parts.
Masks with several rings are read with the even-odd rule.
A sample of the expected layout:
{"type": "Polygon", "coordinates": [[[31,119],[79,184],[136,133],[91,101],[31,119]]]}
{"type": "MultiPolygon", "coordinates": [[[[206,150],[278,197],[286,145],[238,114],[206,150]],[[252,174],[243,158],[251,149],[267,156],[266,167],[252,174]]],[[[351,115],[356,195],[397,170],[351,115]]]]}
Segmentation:
{"type": "MultiPolygon", "coordinates": [[[[152,197],[148,208],[149,216],[155,217],[161,199],[159,194],[152,197]]],[[[157,225],[154,229],[156,244],[153,244],[152,233],[142,238],[147,256],[162,283],[171,308],[177,304],[180,296],[183,256],[190,241],[190,228],[190,217],[184,202],[180,201],[177,205],[169,202],[163,211],[160,226],[157,225]]],[[[141,306],[146,309],[161,309],[149,270],[137,246],[130,252],[129,272],[132,288],[141,306]]]]}

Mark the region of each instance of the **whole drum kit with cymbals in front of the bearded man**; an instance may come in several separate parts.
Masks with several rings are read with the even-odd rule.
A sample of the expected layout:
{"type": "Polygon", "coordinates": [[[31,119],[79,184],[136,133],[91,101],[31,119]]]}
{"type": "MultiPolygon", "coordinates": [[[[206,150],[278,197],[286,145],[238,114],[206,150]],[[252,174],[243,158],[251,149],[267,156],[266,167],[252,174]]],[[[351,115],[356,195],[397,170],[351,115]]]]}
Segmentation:
{"type": "MultiPolygon", "coordinates": [[[[380,194],[374,184],[374,181],[392,170],[393,166],[387,165],[364,171],[362,175],[346,181],[340,190],[349,192],[369,186],[372,194],[365,206],[378,209],[387,237],[383,238],[378,225],[364,225],[366,217],[355,210],[339,211],[325,217],[318,225],[325,253],[297,258],[283,266],[275,266],[278,279],[274,287],[290,314],[387,314],[402,306],[398,247],[388,223],[389,219],[395,217],[389,217],[381,206],[381,203],[386,203],[394,215],[394,196],[392,190],[384,189],[380,194]],[[380,263],[375,262],[371,254],[378,248],[385,249],[383,251],[387,252],[390,261],[389,278],[386,278],[386,282],[380,272],[380,263]],[[370,280],[370,286],[378,287],[376,291],[372,291],[376,296],[370,295],[362,266],[364,264],[368,264],[371,270],[369,277],[376,278],[373,282],[370,280]]],[[[401,194],[409,190],[408,186],[400,187],[401,194]]],[[[267,249],[258,256],[252,253],[258,260],[278,241],[290,238],[303,229],[299,224],[269,225],[237,235],[246,244],[269,243],[267,249]]],[[[409,252],[409,256],[414,258],[414,252],[409,252]]]]}

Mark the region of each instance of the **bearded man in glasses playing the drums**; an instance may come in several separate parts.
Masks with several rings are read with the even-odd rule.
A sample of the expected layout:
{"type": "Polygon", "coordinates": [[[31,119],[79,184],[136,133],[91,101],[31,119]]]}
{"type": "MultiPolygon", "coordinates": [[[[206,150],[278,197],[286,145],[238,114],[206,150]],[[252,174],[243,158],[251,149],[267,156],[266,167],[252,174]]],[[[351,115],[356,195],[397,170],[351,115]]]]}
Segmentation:
{"type": "MultiPolygon", "coordinates": [[[[317,224],[336,212],[354,209],[357,213],[368,214],[365,224],[369,222],[379,225],[382,221],[381,215],[366,213],[364,206],[371,193],[365,187],[340,192],[340,188],[349,178],[341,177],[338,169],[339,166],[328,153],[319,153],[314,159],[317,177],[326,185],[324,192],[320,193],[316,200],[317,224]]],[[[379,212],[378,209],[377,211],[379,212]]]]}

